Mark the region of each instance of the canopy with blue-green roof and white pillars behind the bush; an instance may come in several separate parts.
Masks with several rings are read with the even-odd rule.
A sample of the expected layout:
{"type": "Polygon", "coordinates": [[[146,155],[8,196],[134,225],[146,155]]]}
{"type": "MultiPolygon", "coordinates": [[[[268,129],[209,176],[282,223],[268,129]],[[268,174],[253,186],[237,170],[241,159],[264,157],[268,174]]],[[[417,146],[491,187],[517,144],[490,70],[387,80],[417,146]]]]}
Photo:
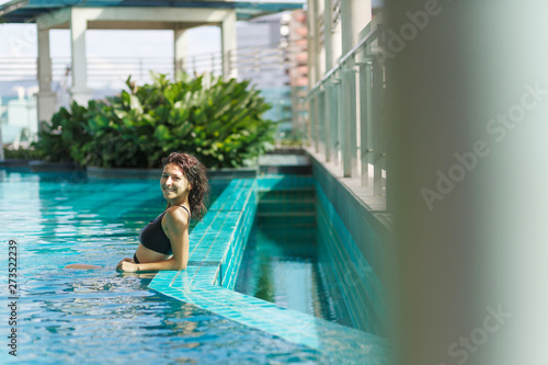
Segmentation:
{"type": "Polygon", "coordinates": [[[87,80],[87,30],[173,30],[174,70],[183,69],[185,31],[217,25],[221,30],[222,75],[236,77],[236,21],[301,9],[302,4],[241,1],[153,0],[14,0],[0,5],[2,23],[36,23],[38,34],[38,121],[55,112],[52,91],[49,30],[68,28],[71,39],[71,100],[87,104],[92,95],[87,80]]]}

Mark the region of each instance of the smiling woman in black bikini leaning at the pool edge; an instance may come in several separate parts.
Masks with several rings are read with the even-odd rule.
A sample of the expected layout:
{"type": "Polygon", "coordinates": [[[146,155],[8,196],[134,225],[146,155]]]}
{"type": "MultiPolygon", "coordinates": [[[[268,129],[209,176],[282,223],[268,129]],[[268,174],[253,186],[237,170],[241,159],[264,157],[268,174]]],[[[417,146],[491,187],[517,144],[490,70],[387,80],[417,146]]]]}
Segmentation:
{"type": "Polygon", "coordinates": [[[191,217],[201,219],[206,212],[205,198],[209,191],[206,169],[195,157],[183,152],[171,153],[162,164],[160,187],[168,207],[142,228],[133,260],[122,260],[116,266],[118,271],[186,269],[191,217]]]}

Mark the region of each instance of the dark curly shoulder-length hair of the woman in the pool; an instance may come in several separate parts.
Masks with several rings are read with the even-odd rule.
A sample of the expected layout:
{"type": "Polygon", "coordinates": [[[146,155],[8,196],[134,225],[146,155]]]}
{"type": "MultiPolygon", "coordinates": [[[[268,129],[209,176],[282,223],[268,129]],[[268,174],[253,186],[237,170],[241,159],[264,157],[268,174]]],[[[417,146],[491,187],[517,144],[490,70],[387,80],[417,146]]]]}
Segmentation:
{"type": "Polygon", "coordinates": [[[192,218],[201,220],[207,212],[206,199],[209,193],[205,166],[197,158],[185,152],[172,152],[164,157],[162,168],[169,163],[176,164],[191,183],[189,204],[191,205],[192,218]]]}

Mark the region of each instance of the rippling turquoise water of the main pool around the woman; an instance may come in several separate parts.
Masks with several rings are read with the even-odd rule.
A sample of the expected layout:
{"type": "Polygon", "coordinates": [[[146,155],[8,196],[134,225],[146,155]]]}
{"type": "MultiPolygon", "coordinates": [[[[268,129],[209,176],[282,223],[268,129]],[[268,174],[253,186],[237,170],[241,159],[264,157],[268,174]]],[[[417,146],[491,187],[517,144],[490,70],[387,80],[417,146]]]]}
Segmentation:
{"type": "Polygon", "coordinates": [[[10,170],[0,170],[0,179],[1,363],[331,363],[318,351],[148,289],[153,274],[114,271],[164,207],[158,182],[10,170]],[[18,242],[16,358],[7,346],[9,240],[18,242]],[[82,262],[104,269],[62,270],[82,262]]]}

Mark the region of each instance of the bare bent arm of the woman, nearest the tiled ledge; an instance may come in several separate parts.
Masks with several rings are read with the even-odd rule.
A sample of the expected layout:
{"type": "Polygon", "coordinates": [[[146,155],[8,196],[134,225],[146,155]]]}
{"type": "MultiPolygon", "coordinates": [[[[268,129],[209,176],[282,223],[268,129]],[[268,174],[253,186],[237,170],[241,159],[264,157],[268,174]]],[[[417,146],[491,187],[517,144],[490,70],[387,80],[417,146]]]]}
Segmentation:
{"type": "Polygon", "coordinates": [[[189,262],[189,225],[190,217],[184,209],[176,206],[169,208],[164,216],[164,227],[165,235],[171,242],[173,256],[158,262],[138,264],[121,261],[116,270],[129,273],[185,270],[189,262]]]}

